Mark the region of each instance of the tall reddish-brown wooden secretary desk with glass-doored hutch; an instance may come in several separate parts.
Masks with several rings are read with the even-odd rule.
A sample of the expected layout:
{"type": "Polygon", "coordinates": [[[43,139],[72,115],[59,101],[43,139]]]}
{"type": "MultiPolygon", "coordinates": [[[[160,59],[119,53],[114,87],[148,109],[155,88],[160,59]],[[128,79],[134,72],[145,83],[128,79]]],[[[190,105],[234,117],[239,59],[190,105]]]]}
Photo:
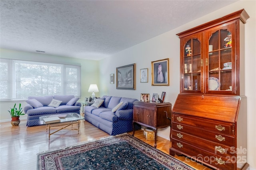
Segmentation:
{"type": "Polygon", "coordinates": [[[170,154],[221,170],[247,169],[244,9],[178,33],[180,94],[170,154]]]}

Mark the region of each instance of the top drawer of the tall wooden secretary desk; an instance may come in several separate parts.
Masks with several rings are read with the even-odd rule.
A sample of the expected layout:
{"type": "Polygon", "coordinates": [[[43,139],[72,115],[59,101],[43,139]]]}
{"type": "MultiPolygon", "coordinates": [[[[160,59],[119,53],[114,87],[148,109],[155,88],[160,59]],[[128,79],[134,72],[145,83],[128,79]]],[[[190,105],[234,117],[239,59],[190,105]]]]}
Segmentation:
{"type": "Polygon", "coordinates": [[[184,115],[174,114],[174,122],[209,129],[219,133],[225,133],[228,135],[234,135],[234,126],[232,123],[225,123],[220,121],[210,121],[202,118],[192,118],[184,115]]]}

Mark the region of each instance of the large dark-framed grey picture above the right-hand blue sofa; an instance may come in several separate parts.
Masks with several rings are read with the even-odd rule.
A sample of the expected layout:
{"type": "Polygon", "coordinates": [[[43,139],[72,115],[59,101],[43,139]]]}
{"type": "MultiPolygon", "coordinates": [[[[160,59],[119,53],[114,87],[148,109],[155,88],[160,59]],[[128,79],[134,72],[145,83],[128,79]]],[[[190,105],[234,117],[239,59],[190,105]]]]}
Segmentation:
{"type": "Polygon", "coordinates": [[[135,63],[116,68],[116,89],[135,90],[135,63]]]}

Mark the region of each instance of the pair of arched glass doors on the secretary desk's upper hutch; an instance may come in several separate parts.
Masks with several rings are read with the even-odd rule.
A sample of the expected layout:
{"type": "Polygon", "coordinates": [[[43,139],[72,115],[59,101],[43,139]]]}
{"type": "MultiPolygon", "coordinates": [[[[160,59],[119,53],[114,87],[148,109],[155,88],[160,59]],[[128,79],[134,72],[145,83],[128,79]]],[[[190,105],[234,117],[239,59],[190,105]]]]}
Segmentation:
{"type": "MultiPolygon", "coordinates": [[[[239,95],[239,20],[180,37],[180,92],[239,95]]],[[[200,30],[200,28],[198,28],[200,30]]]]}

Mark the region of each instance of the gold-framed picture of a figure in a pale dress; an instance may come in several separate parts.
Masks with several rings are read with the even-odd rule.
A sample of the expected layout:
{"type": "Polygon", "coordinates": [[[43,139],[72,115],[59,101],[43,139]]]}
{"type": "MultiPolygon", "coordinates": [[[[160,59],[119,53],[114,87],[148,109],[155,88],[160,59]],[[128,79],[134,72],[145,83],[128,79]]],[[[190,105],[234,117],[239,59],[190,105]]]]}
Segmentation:
{"type": "Polygon", "coordinates": [[[169,59],[151,62],[152,86],[169,86],[169,59]]]}

